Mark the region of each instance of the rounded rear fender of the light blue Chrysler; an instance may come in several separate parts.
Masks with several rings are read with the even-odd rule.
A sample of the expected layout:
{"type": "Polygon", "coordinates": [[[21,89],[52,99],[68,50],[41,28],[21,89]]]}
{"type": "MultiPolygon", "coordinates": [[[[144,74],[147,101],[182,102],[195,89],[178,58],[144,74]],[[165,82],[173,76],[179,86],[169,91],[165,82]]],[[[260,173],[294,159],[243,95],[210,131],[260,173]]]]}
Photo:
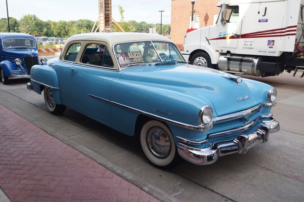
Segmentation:
{"type": "Polygon", "coordinates": [[[32,90],[41,94],[44,87],[52,89],[57,104],[61,104],[58,76],[55,70],[48,65],[34,65],[30,71],[32,90]]]}

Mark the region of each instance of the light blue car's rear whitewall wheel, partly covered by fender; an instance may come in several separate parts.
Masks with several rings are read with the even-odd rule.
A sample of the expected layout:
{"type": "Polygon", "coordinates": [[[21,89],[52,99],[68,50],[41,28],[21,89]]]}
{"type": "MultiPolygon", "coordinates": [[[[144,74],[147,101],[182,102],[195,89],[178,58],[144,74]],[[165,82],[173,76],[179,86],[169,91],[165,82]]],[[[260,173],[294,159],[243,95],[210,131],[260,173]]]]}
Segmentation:
{"type": "Polygon", "coordinates": [[[44,89],[44,100],[45,100],[45,104],[46,104],[48,110],[52,114],[61,114],[66,109],[66,106],[56,104],[53,93],[52,93],[52,89],[50,89],[48,87],[45,87],[45,89],[44,89]]]}

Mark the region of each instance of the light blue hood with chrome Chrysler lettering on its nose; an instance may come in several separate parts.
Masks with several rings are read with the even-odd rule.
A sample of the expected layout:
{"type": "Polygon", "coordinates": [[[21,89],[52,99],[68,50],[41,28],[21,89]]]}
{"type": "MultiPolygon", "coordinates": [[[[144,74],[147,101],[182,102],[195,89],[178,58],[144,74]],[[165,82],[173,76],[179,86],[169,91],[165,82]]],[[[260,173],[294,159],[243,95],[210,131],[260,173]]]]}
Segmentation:
{"type": "Polygon", "coordinates": [[[263,102],[264,96],[260,89],[249,79],[243,79],[238,84],[225,75],[231,74],[187,64],[147,65],[123,70],[120,79],[144,83],[151,88],[162,86],[166,92],[183,93],[196,99],[207,98],[218,116],[248,109],[263,102]]]}

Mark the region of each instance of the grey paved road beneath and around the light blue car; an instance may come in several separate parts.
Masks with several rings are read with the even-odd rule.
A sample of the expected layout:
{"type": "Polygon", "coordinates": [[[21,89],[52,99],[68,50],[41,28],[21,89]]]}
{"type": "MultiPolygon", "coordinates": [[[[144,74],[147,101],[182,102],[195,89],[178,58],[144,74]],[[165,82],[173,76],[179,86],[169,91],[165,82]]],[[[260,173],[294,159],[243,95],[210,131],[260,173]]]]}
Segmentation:
{"type": "Polygon", "coordinates": [[[134,138],[71,109],[59,116],[48,113],[43,96],[26,90],[25,80],[0,84],[0,104],[164,201],[303,201],[304,78],[286,72],[247,77],[277,88],[273,113],[281,131],[245,155],[224,156],[204,167],[183,162],[172,170],[157,169],[134,138]]]}

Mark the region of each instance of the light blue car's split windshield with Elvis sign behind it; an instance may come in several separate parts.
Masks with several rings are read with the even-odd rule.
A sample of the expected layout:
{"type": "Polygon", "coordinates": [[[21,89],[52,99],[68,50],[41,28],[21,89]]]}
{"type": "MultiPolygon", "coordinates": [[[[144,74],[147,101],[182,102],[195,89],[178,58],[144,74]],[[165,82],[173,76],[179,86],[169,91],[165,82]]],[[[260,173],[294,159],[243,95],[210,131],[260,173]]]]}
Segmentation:
{"type": "Polygon", "coordinates": [[[182,61],[183,57],[169,42],[131,42],[114,46],[120,67],[168,61],[182,61]]]}

